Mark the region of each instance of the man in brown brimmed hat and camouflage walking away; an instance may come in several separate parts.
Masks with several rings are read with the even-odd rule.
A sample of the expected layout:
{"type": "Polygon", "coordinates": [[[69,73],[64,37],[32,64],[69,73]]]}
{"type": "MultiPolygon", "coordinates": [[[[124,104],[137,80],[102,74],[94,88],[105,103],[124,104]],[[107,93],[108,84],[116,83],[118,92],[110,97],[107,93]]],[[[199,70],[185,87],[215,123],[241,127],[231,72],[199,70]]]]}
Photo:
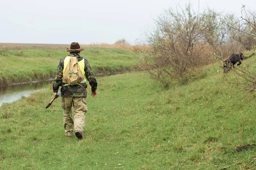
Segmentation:
{"type": "MultiPolygon", "coordinates": [[[[80,51],[83,51],[78,42],[72,42],[70,48],[66,48],[66,51],[70,52],[67,57],[60,60],[55,80],[52,85],[54,95],[57,94],[59,87],[61,86],[61,107],[63,108],[63,125],[66,136],[73,136],[73,130],[75,130],[76,137],[81,140],[84,138],[84,121],[85,113],[87,112],[86,97],[87,97],[87,84],[86,80],[89,81],[91,86],[91,95],[97,96],[97,81],[93,70],[89,65],[89,62],[80,56],[80,51]],[[73,57],[73,58],[72,58],[73,57]],[[74,58],[75,57],[75,58],[74,58]],[[78,69],[81,69],[83,80],[81,82],[65,82],[71,75],[78,75],[79,71],[73,73],[70,62],[71,59],[75,59],[73,65],[78,65],[78,69]],[[76,60],[77,59],[77,60],[76,60]],[[69,73],[66,75],[66,72],[69,73]],[[72,73],[72,74],[71,74],[72,73]],[[74,119],[72,117],[72,106],[74,119]]],[[[73,67],[73,66],[72,66],[73,67]]],[[[80,75],[81,76],[81,75],[80,75]]],[[[80,81],[80,80],[79,80],[80,81]]]]}

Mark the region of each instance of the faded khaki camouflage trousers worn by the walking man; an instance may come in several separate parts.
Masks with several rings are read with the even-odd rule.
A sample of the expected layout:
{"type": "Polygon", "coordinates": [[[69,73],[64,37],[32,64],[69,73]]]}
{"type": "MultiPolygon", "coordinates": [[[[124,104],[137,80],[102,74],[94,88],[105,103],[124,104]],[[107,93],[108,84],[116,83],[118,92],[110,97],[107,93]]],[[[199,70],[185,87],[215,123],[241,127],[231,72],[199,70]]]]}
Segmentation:
{"type": "Polygon", "coordinates": [[[61,108],[63,108],[63,125],[66,136],[73,135],[73,128],[83,132],[85,113],[87,112],[85,97],[61,97],[61,108]],[[72,116],[73,105],[73,116],[72,116]]]}

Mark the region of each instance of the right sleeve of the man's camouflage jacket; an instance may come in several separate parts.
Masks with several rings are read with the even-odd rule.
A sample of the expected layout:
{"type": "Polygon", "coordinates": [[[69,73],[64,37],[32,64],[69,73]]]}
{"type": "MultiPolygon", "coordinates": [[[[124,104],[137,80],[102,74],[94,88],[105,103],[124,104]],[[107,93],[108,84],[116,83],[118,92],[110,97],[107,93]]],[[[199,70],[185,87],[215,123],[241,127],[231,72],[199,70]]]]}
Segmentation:
{"type": "Polygon", "coordinates": [[[95,75],[93,74],[93,69],[90,67],[89,62],[86,59],[84,59],[84,72],[86,79],[89,81],[89,84],[92,87],[92,92],[95,92],[97,90],[98,83],[95,75]]]}

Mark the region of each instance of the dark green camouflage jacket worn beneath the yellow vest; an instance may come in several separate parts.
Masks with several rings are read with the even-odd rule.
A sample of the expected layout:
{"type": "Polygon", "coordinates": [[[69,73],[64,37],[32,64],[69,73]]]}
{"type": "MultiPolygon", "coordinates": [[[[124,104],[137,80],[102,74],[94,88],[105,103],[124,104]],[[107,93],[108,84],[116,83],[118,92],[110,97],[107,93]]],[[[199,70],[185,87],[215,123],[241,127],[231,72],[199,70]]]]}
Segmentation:
{"type": "MultiPolygon", "coordinates": [[[[81,61],[83,57],[79,56],[79,54],[76,53],[70,53],[68,56],[76,57],[78,61],[81,61]]],[[[62,83],[62,77],[63,77],[63,68],[64,68],[64,59],[61,59],[56,71],[55,80],[52,85],[52,89],[54,93],[58,92],[59,87],[62,83]]],[[[92,92],[95,92],[97,89],[97,81],[93,74],[93,70],[89,65],[89,62],[84,59],[84,76],[86,77],[87,81],[89,81],[89,84],[92,88],[92,92]]],[[[87,97],[86,88],[84,88],[81,85],[64,85],[61,87],[61,96],[63,97],[87,97]]]]}

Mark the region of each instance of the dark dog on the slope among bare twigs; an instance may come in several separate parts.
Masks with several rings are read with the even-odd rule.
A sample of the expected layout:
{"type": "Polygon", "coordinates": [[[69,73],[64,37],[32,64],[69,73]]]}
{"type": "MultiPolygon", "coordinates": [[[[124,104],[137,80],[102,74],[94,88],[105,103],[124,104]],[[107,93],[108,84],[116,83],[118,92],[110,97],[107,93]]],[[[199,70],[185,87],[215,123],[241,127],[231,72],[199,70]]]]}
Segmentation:
{"type": "Polygon", "coordinates": [[[228,59],[224,61],[223,69],[224,73],[227,73],[230,71],[232,67],[235,66],[235,64],[238,62],[237,65],[241,65],[241,60],[244,59],[243,53],[233,53],[228,59]]]}

